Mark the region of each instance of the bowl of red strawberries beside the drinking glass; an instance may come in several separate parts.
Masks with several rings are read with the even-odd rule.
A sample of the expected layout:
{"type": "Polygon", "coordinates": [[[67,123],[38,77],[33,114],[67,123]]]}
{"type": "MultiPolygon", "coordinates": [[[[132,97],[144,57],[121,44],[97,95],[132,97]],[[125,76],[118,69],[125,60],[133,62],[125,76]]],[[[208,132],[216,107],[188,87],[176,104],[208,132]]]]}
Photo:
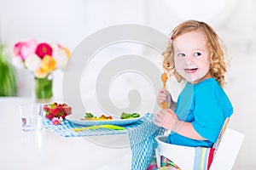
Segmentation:
{"type": "Polygon", "coordinates": [[[66,116],[71,115],[72,108],[71,106],[65,103],[51,103],[44,105],[44,116],[49,119],[53,120],[54,118],[64,120],[66,116]]]}

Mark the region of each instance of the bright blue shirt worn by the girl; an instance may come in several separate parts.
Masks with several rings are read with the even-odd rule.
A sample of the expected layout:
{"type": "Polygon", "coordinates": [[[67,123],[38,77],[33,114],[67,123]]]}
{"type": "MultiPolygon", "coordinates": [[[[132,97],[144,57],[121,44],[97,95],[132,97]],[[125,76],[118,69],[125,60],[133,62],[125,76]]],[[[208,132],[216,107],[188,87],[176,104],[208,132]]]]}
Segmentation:
{"type": "Polygon", "coordinates": [[[212,147],[224,121],[233,113],[230,99],[214,78],[208,78],[196,84],[186,83],[177,99],[175,113],[179,120],[191,122],[195,131],[207,140],[186,138],[170,133],[167,143],[212,147]]]}

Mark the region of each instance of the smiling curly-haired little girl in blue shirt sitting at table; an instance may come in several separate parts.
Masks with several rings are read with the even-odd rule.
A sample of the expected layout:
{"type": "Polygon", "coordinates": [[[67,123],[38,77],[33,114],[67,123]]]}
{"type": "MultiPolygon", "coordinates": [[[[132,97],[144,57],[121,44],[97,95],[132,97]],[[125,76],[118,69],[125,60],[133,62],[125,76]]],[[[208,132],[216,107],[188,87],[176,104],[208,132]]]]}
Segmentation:
{"type": "Polygon", "coordinates": [[[166,89],[160,89],[158,105],[168,102],[154,124],[172,130],[167,143],[212,147],[227,117],[233,113],[225,94],[226,63],[221,41],[205,22],[187,20],[169,36],[164,57],[165,71],[186,82],[177,102],[166,89]]]}

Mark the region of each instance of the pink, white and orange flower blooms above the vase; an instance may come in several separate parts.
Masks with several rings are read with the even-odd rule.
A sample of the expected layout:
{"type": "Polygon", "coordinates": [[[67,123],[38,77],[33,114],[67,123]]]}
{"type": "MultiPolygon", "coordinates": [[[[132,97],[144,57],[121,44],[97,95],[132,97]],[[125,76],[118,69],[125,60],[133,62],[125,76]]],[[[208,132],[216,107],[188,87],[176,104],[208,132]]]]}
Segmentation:
{"type": "Polygon", "coordinates": [[[13,61],[19,68],[32,71],[35,77],[44,78],[56,69],[64,69],[70,51],[55,42],[27,40],[15,43],[13,61]]]}

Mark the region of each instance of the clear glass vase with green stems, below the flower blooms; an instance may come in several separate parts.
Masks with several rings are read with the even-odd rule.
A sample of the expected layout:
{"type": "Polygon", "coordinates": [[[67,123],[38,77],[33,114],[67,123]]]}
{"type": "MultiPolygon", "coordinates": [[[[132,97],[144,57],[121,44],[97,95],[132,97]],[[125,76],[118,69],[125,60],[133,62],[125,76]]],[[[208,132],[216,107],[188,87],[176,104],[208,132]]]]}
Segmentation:
{"type": "Polygon", "coordinates": [[[50,103],[53,97],[53,77],[49,74],[47,77],[34,77],[35,100],[37,103],[50,103]]]}

